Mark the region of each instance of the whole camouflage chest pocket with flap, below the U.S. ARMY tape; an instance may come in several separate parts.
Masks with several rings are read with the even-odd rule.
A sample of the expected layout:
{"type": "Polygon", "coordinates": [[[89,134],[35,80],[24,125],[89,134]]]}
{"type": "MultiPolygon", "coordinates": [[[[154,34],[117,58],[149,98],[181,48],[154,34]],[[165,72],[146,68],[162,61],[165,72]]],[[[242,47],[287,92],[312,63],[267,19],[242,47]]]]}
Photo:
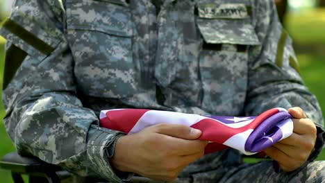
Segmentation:
{"type": "Polygon", "coordinates": [[[202,108],[213,114],[239,114],[246,96],[249,46],[260,44],[250,19],[197,17],[197,26],[203,37],[202,108]]]}

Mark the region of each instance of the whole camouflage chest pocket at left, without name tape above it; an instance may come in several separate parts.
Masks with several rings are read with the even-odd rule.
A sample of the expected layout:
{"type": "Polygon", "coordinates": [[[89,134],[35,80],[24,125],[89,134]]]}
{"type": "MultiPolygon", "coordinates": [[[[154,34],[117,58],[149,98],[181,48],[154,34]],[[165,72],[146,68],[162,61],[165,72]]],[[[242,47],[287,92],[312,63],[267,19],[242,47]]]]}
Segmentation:
{"type": "Polygon", "coordinates": [[[133,62],[133,24],[126,1],[67,1],[67,39],[81,92],[103,98],[132,96],[138,67],[133,62]]]}

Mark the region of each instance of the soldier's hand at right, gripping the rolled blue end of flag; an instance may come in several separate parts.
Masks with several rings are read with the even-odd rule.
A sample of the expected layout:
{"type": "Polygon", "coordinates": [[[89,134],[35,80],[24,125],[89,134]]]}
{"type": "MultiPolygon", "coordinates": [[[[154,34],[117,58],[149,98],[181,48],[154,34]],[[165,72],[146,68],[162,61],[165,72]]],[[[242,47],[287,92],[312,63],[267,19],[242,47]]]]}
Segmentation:
{"type": "Polygon", "coordinates": [[[265,153],[276,160],[283,171],[294,171],[307,161],[315,146],[317,130],[300,107],[292,107],[288,112],[294,118],[293,134],[267,148],[265,153]]]}

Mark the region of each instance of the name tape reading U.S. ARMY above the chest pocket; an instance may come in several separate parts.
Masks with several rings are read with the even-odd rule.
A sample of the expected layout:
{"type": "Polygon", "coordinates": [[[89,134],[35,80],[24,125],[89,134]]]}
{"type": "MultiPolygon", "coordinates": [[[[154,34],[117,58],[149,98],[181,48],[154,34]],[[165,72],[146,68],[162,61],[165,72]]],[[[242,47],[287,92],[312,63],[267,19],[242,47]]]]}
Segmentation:
{"type": "Polygon", "coordinates": [[[249,17],[249,10],[243,3],[208,3],[199,5],[197,12],[204,19],[244,19],[249,17]]]}

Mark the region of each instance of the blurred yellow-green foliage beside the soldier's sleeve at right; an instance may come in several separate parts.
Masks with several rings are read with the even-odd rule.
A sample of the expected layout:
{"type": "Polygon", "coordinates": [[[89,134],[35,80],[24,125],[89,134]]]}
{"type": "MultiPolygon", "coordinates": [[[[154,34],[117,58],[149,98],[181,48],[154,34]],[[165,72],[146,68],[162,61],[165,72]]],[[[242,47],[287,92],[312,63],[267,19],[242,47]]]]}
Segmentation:
{"type": "MultiPolygon", "coordinates": [[[[292,11],[285,19],[299,60],[301,77],[315,94],[325,116],[325,8],[292,11]]],[[[318,159],[325,160],[325,150],[318,159]]]]}

